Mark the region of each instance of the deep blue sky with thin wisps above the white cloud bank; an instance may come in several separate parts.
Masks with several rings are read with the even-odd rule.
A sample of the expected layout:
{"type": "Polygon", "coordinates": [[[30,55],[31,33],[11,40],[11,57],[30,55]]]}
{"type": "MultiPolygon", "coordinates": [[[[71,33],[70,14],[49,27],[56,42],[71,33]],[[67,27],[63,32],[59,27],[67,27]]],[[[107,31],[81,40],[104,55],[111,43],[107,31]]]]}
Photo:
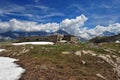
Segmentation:
{"type": "Polygon", "coordinates": [[[0,21],[17,19],[38,23],[57,22],[84,14],[85,25],[109,25],[120,22],[119,0],[1,0],[0,21]]]}

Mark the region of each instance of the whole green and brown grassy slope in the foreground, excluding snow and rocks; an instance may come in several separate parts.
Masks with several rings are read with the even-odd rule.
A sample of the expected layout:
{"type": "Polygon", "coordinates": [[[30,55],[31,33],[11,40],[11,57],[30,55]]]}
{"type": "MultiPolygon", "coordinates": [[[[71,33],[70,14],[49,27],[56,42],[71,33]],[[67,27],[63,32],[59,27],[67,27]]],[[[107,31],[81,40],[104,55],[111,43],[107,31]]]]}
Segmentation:
{"type": "MultiPolygon", "coordinates": [[[[120,44],[117,45],[120,46],[120,44]]],[[[101,58],[91,55],[79,57],[73,54],[79,50],[92,50],[96,54],[106,54],[107,52],[103,48],[119,50],[116,44],[104,44],[100,48],[91,48],[87,43],[44,46],[7,45],[2,47],[9,50],[8,52],[4,52],[4,55],[20,59],[19,63],[27,70],[22,80],[102,80],[96,76],[97,73],[102,74],[109,80],[116,79],[112,66],[104,62],[101,58]],[[110,47],[110,45],[114,45],[115,47],[110,47]],[[29,49],[30,51],[18,55],[23,49],[29,49]],[[63,55],[61,54],[63,51],[70,51],[71,54],[63,55]],[[83,64],[82,61],[86,63],[83,64]],[[45,65],[48,69],[41,70],[41,65],[45,65]]]]}

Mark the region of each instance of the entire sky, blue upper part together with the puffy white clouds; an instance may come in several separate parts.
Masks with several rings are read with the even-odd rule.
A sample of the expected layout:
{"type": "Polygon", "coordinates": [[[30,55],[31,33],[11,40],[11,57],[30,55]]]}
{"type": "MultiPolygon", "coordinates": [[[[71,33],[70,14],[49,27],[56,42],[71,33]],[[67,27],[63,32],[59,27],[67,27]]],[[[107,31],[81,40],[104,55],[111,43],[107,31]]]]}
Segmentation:
{"type": "Polygon", "coordinates": [[[2,33],[63,29],[78,36],[99,31],[102,34],[110,28],[110,32],[118,33],[119,14],[119,0],[1,0],[0,30],[2,33]]]}

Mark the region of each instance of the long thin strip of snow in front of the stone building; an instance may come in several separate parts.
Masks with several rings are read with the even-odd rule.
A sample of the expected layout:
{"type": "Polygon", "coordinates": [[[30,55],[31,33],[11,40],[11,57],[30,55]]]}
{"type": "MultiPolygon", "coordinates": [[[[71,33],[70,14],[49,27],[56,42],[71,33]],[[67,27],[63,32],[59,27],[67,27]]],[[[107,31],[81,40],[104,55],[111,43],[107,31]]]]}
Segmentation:
{"type": "Polygon", "coordinates": [[[22,42],[22,43],[13,43],[13,45],[27,45],[27,44],[32,44],[32,45],[53,45],[53,42],[22,42]]]}

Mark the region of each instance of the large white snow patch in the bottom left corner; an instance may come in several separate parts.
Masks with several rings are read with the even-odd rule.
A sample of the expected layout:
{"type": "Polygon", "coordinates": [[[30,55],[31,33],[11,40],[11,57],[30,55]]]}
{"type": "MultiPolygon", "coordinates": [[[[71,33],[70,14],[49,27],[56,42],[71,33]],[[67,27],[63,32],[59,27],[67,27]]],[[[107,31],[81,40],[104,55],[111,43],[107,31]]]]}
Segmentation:
{"type": "Polygon", "coordinates": [[[24,69],[15,64],[17,59],[0,57],[0,80],[18,80],[24,69]]]}

